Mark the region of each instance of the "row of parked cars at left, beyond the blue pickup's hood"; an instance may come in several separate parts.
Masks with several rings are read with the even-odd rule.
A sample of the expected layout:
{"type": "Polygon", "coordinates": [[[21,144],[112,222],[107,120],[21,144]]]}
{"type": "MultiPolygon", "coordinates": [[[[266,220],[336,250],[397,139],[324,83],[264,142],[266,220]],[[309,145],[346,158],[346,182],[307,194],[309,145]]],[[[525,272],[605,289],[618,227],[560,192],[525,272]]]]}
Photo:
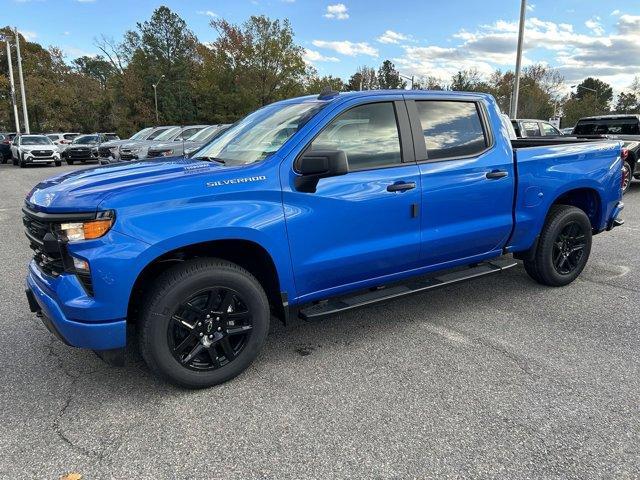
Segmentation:
{"type": "Polygon", "coordinates": [[[62,162],[119,163],[147,158],[191,155],[230,125],[165,125],[147,127],[128,139],[115,133],[16,134],[0,132],[0,162],[60,166],[62,162]]]}

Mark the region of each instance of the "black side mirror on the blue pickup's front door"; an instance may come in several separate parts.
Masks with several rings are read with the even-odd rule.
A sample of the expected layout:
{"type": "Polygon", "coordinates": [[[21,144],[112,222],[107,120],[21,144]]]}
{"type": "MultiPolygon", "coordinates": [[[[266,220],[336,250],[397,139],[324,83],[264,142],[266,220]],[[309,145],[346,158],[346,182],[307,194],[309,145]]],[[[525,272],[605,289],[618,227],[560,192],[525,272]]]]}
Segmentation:
{"type": "Polygon", "coordinates": [[[307,150],[298,157],[295,169],[296,190],[315,193],[321,178],[337,177],[349,173],[347,154],[343,150],[307,150]]]}

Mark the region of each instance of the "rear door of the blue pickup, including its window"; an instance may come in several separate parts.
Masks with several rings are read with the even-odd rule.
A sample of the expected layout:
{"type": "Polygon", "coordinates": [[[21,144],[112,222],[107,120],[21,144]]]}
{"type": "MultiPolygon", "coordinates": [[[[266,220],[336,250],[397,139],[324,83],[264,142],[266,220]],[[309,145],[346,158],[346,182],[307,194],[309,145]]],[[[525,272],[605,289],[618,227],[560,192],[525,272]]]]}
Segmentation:
{"type": "MultiPolygon", "coordinates": [[[[429,157],[419,162],[422,264],[499,250],[513,224],[513,159],[494,145],[482,105],[423,101],[408,107],[425,139],[419,144],[414,135],[416,152],[429,157]]],[[[500,126],[493,128],[500,131],[500,126]]]]}

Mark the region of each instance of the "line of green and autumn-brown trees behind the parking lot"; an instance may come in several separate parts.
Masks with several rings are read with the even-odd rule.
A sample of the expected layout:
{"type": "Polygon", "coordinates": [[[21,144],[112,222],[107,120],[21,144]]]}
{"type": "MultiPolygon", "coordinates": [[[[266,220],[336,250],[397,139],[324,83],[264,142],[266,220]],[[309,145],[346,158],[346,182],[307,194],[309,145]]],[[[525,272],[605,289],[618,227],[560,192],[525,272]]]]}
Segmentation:
{"type": "MultiPolygon", "coordinates": [[[[361,66],[346,81],[320,76],[305,63],[304,48],[294,41],[288,20],[252,16],[242,24],[213,19],[217,38],[203,43],[169,8],[156,9],[119,40],[101,36],[96,56],[70,63],[57,47],[43,48],[21,36],[23,70],[31,129],[46,131],[116,131],[127,136],[154,125],[153,85],[157,85],[159,122],[163,124],[227,123],[268,103],[292,96],[378,88],[416,88],[488,92],[509,111],[514,74],[496,70],[457,72],[450,79],[403,78],[390,60],[378,68],[361,66]]],[[[0,29],[0,70],[8,71],[0,29]]],[[[15,69],[14,69],[15,70],[15,69]]],[[[563,115],[571,126],[581,116],[640,112],[640,80],[618,96],[599,79],[587,78],[563,95],[564,78],[542,64],[524,69],[519,116],[563,115]]],[[[9,79],[0,76],[0,130],[13,129],[9,79]]],[[[20,101],[18,96],[18,101],[20,101]]],[[[564,126],[563,125],[563,126],[564,126]]]]}

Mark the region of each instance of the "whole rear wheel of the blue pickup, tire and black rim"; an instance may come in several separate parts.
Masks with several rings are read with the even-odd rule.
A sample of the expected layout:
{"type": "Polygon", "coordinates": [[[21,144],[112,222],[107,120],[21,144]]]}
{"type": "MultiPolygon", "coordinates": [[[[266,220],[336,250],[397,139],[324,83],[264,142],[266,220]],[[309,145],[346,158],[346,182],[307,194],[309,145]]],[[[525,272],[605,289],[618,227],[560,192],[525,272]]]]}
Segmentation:
{"type": "Polygon", "coordinates": [[[542,227],[533,260],[525,260],[524,268],[542,285],[568,285],[578,278],[589,260],[591,237],[591,222],[582,210],[554,205],[542,227]]]}

